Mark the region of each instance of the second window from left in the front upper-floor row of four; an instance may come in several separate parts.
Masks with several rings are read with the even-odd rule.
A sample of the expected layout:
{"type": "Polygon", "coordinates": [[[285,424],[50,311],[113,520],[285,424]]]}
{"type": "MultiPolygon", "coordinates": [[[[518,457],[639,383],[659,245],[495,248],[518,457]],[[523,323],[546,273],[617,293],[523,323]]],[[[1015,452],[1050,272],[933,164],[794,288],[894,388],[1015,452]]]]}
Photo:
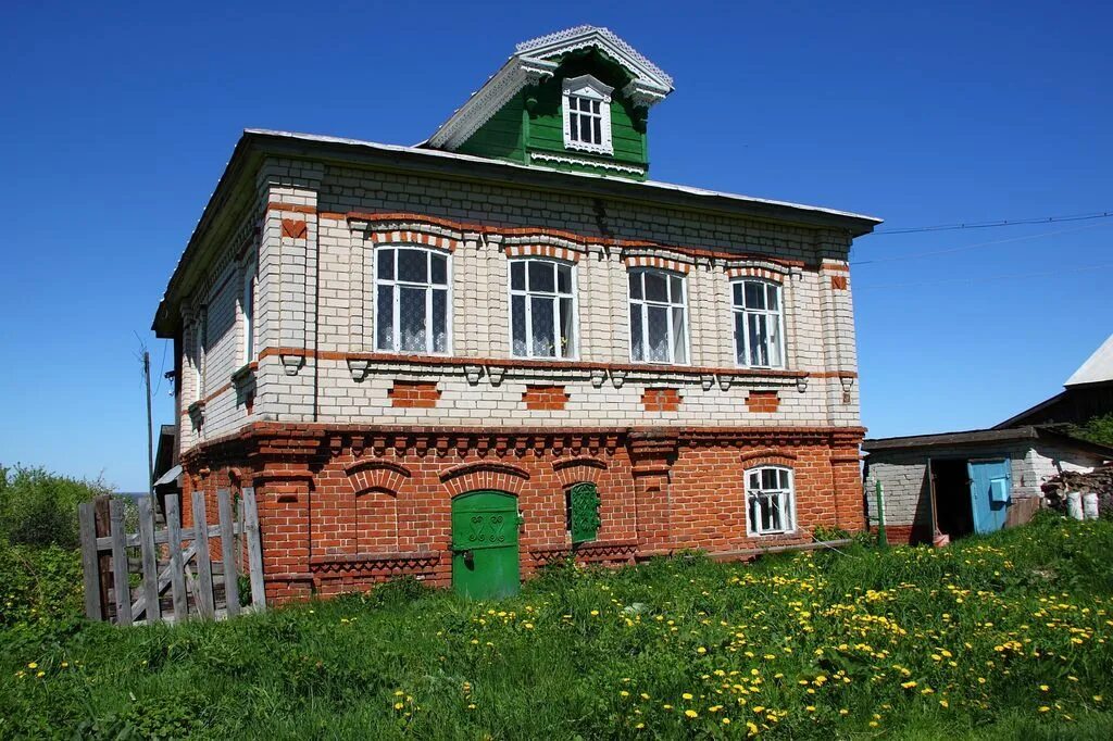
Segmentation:
{"type": "Polygon", "coordinates": [[[512,260],[510,326],[515,357],[575,357],[572,266],[544,259],[512,260]]]}

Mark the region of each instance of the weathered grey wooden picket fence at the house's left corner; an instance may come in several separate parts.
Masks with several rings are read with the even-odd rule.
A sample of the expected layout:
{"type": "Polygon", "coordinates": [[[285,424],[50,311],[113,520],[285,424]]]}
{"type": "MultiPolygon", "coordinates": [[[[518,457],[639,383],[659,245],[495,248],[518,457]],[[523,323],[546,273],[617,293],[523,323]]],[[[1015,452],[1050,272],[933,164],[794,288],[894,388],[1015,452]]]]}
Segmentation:
{"type": "Polygon", "coordinates": [[[161,530],[156,530],[151,497],[140,496],[137,504],[138,533],[126,531],[125,505],[119,498],[98,497],[78,510],[85,613],[90,620],[119,625],[179,622],[193,616],[220,620],[265,607],[254,488],[245,487],[236,503],[228,490],[219,490],[216,525],[206,520],[204,493],[194,492],[194,524],[185,530],[177,494],[166,496],[166,512],[157,515],[165,522],[161,530]],[[209,553],[210,539],[220,540],[220,560],[216,562],[209,553]],[[250,576],[250,605],[242,607],[239,574],[245,572],[250,576]],[[134,574],[138,579],[132,579],[134,574]],[[138,596],[132,600],[135,581],[138,596]]]}

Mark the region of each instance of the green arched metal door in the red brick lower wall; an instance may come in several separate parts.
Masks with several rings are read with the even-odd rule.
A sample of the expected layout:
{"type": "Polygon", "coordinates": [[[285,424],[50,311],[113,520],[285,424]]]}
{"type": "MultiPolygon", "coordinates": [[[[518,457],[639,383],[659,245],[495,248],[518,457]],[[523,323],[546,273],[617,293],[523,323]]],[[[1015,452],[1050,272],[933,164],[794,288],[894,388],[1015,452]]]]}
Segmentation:
{"type": "Polygon", "coordinates": [[[452,501],[452,585],[456,594],[493,600],[518,594],[518,500],[469,492],[452,501]]]}

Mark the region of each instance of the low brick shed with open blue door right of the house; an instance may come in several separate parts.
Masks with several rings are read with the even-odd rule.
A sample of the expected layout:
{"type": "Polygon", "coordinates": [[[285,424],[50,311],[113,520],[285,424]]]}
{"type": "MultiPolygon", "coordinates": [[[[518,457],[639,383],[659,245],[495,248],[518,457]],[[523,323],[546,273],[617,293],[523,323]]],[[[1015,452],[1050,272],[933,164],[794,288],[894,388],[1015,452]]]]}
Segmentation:
{"type": "Polygon", "coordinates": [[[863,449],[869,522],[878,522],[874,492],[880,483],[887,536],[900,543],[1027,522],[1041,506],[1045,481],[1113,460],[1113,447],[1038,425],[866,439],[863,449]]]}

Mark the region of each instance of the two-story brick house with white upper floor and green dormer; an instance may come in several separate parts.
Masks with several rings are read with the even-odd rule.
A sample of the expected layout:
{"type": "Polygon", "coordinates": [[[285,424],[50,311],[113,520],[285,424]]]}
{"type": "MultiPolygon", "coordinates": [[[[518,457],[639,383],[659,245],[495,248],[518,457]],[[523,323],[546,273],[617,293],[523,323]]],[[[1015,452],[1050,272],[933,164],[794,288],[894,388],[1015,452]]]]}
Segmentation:
{"type": "Polygon", "coordinates": [[[671,90],[580,27],[417,147],[244,132],[155,329],[185,490],[255,486],[272,599],[864,526],[878,221],[647,179],[671,90]]]}

